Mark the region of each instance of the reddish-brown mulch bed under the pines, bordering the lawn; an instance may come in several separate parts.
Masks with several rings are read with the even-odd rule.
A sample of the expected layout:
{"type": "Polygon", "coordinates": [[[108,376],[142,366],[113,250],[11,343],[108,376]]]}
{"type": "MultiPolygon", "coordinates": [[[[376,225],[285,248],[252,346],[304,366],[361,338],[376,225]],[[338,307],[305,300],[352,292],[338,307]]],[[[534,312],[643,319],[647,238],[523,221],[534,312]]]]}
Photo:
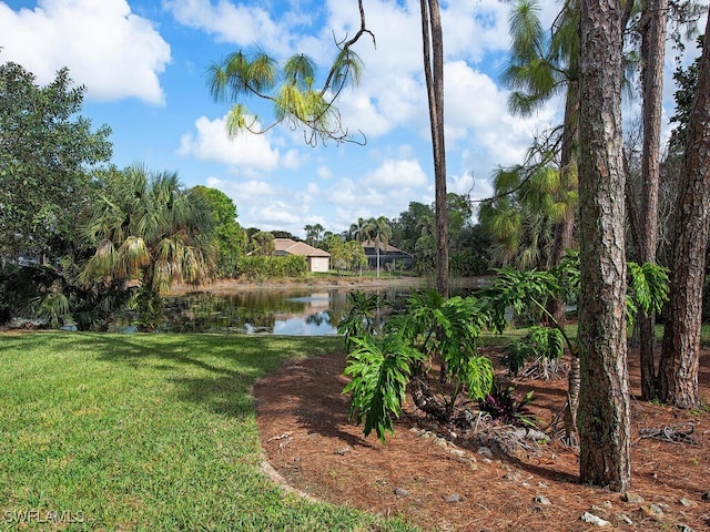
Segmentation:
{"type": "MultiPolygon", "coordinates": [[[[710,530],[710,413],[681,411],[640,401],[638,352],[630,352],[632,392],[632,489],[645,503],[581,485],[578,453],[552,442],[514,457],[485,459],[475,449],[442,447],[419,436],[426,427],[412,411],[396,423],[385,444],[348,420],[342,395],[345,355],[292,360],[254,387],[262,447],[283,481],[313,498],[383,515],[400,515],[425,530],[589,531],[585,512],[611,522],[604,530],[696,532],[710,530]],[[698,444],[641,438],[642,428],[693,423],[698,444]],[[395,489],[407,490],[397,495],[395,489]],[[446,498],[458,494],[458,502],[446,498]],[[536,502],[544,495],[551,504],[536,502]],[[682,500],[682,502],[681,502],[682,500]],[[649,514],[657,504],[662,516],[649,514]],[[625,513],[633,524],[625,524],[625,513]],[[688,530],[688,529],[684,529],[688,530]]],[[[566,380],[520,380],[535,390],[535,415],[546,427],[562,408],[566,380]]],[[[710,399],[710,350],[701,357],[701,397],[710,399]]],[[[432,428],[432,427],[429,427],[432,428]]]]}

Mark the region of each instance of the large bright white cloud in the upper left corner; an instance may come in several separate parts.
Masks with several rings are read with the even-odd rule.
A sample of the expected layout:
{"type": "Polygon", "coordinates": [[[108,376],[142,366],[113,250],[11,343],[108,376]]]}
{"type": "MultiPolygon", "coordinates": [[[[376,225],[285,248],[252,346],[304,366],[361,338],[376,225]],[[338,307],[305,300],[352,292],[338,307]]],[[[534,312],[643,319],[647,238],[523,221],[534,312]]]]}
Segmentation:
{"type": "Polygon", "coordinates": [[[41,84],[68,66],[90,99],[164,103],[158,76],[170,45],[125,0],[39,0],[19,11],[0,2],[0,34],[2,60],[22,64],[41,84]]]}

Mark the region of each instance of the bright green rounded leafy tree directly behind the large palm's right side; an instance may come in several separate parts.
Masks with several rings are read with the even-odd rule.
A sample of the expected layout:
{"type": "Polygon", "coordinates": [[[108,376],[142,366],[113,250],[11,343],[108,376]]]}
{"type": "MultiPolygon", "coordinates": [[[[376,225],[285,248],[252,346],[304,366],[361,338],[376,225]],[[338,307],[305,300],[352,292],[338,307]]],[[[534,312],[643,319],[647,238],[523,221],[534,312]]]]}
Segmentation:
{"type": "Polygon", "coordinates": [[[216,188],[197,185],[192,191],[209,205],[216,238],[217,275],[233,277],[240,256],[244,254],[248,237],[236,222],[236,206],[231,197],[216,188]]]}

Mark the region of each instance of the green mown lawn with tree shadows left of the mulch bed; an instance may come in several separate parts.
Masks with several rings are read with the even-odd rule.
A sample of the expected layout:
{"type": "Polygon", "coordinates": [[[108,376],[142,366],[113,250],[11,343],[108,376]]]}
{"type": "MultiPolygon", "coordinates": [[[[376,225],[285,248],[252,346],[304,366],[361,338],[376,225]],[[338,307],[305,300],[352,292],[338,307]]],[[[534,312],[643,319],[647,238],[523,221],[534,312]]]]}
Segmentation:
{"type": "Polygon", "coordinates": [[[251,387],[337,338],[0,335],[3,530],[409,531],[260,470],[251,387]]]}

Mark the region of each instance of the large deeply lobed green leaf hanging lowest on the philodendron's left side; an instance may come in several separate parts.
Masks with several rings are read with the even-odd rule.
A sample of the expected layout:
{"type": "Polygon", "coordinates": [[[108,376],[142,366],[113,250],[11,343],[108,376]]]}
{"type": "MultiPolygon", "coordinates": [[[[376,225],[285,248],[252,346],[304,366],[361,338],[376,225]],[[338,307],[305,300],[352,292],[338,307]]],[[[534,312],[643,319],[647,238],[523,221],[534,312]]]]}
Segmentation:
{"type": "Polygon", "coordinates": [[[365,436],[375,430],[384,441],[393,432],[393,417],[402,413],[407,382],[414,362],[424,360],[402,334],[384,337],[349,338],[354,349],[347,357],[345,375],[352,377],[343,389],[351,395],[351,418],[359,424],[365,420],[365,436]]]}

